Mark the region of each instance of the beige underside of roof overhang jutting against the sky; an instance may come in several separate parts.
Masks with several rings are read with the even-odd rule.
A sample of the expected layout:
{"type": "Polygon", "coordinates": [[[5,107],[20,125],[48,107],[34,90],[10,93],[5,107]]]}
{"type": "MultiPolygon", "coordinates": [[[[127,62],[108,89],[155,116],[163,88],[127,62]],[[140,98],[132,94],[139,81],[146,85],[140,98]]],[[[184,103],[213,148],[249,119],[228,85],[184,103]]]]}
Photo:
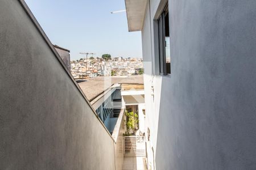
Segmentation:
{"type": "Polygon", "coordinates": [[[129,31],[141,31],[147,0],[125,0],[125,6],[129,31]]]}

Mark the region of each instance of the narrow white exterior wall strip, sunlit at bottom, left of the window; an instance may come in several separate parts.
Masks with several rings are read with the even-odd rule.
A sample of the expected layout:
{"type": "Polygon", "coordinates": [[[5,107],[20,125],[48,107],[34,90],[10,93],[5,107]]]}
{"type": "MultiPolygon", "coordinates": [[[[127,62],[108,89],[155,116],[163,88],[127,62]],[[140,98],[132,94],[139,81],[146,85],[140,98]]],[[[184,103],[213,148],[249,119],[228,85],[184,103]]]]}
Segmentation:
{"type": "Polygon", "coordinates": [[[157,88],[158,84],[161,84],[162,79],[159,76],[153,76],[154,69],[154,48],[152,44],[154,43],[152,25],[152,11],[156,10],[159,1],[151,2],[151,12],[149,10],[150,4],[147,3],[146,16],[144,19],[144,24],[142,28],[142,50],[143,50],[143,67],[144,67],[144,91],[145,91],[145,132],[146,132],[146,142],[147,142],[147,166],[148,168],[154,169],[155,167],[155,150],[156,150],[156,139],[158,132],[158,117],[159,117],[159,104],[160,104],[160,88],[157,88]],[[151,17],[151,19],[150,19],[151,17]],[[154,92],[152,90],[154,88],[154,92]],[[154,94],[154,95],[152,95],[154,94]],[[148,129],[150,134],[148,134],[148,129]],[[149,141],[148,141],[148,135],[149,141]],[[154,150],[154,151],[152,151],[154,150]]]}

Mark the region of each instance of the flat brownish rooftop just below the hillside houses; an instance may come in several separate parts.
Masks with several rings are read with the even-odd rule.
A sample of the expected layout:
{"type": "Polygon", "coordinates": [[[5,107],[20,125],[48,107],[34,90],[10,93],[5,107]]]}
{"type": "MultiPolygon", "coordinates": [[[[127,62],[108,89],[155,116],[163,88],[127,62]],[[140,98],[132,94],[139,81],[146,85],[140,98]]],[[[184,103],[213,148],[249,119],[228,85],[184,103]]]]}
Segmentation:
{"type": "Polygon", "coordinates": [[[108,90],[113,84],[144,84],[143,75],[97,76],[80,82],[79,86],[89,101],[108,90]]]}

